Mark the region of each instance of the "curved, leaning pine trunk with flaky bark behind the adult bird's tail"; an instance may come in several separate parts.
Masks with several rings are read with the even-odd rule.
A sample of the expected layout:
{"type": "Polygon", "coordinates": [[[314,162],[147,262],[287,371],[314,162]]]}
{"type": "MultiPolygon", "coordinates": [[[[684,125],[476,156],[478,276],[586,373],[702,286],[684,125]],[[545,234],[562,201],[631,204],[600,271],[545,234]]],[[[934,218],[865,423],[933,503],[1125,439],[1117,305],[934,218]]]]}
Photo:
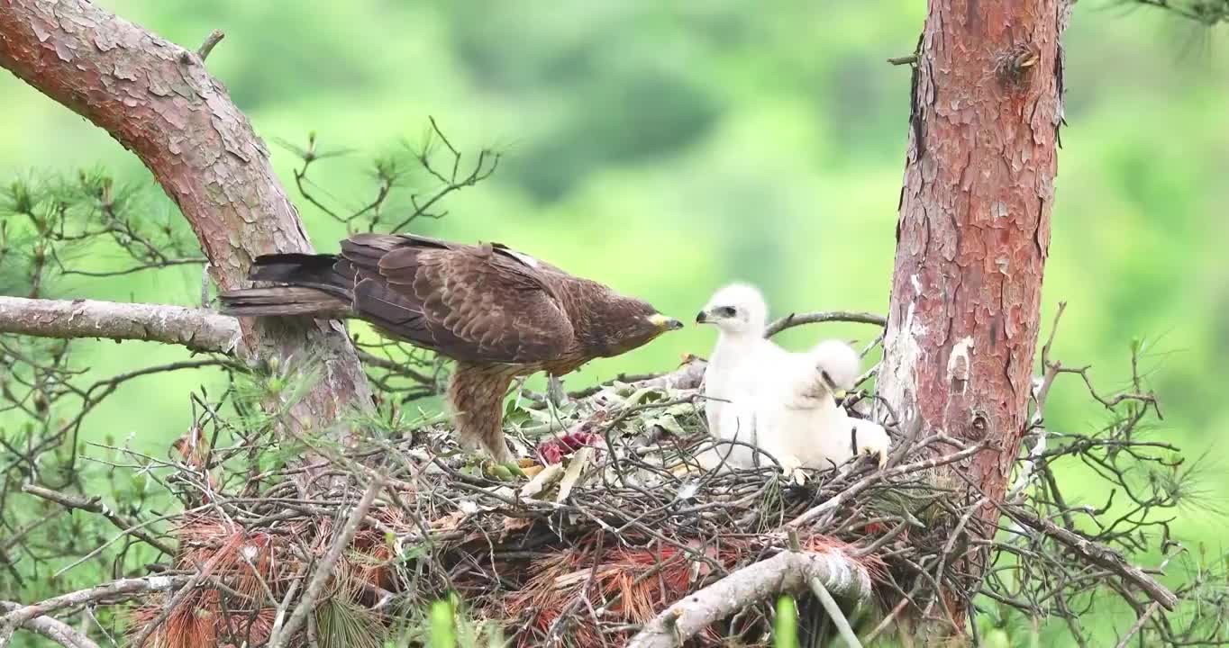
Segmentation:
{"type": "MultiPolygon", "coordinates": [[[[200,58],[85,0],[0,0],[0,66],[136,153],[179,206],[222,290],[253,256],[312,252],[268,150],[200,58]]],[[[291,421],[331,421],[370,388],[338,322],[241,322],[259,358],[312,356],[322,378],[291,421]]]]}

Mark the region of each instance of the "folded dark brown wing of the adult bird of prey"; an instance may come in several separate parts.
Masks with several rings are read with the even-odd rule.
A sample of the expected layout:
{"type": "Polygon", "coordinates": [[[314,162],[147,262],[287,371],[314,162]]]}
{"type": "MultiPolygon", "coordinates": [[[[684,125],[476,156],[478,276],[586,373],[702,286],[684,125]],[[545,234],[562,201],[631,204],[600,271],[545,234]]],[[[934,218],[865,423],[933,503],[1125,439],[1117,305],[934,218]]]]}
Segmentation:
{"type": "Polygon", "coordinates": [[[574,341],[558,277],[503,247],[358,234],[342,242],[336,268],[354,277],[360,318],[455,360],[546,362],[574,341]]]}

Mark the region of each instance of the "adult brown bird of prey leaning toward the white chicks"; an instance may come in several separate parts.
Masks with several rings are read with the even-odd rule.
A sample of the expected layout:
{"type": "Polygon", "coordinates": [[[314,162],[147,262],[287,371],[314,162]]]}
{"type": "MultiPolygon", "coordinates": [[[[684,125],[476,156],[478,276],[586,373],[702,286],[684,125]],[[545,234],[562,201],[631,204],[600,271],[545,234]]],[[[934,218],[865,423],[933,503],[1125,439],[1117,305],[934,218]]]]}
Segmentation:
{"type": "Polygon", "coordinates": [[[504,395],[517,376],[563,376],[682,328],[624,297],[499,243],[356,234],[342,253],[258,256],[248,279],[279,284],[220,295],[232,315],[358,318],[456,361],[449,403],[463,446],[499,461],[504,395]]]}

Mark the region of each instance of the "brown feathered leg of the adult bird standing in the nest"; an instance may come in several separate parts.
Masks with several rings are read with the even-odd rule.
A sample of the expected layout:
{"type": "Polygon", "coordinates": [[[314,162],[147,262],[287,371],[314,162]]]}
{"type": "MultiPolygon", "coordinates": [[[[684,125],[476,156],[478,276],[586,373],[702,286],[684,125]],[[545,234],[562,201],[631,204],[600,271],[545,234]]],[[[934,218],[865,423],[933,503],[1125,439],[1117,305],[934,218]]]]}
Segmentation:
{"type": "Polygon", "coordinates": [[[481,448],[498,463],[516,460],[504,441],[504,394],[514,377],[506,367],[457,362],[449,383],[449,405],[461,446],[481,448]]]}

